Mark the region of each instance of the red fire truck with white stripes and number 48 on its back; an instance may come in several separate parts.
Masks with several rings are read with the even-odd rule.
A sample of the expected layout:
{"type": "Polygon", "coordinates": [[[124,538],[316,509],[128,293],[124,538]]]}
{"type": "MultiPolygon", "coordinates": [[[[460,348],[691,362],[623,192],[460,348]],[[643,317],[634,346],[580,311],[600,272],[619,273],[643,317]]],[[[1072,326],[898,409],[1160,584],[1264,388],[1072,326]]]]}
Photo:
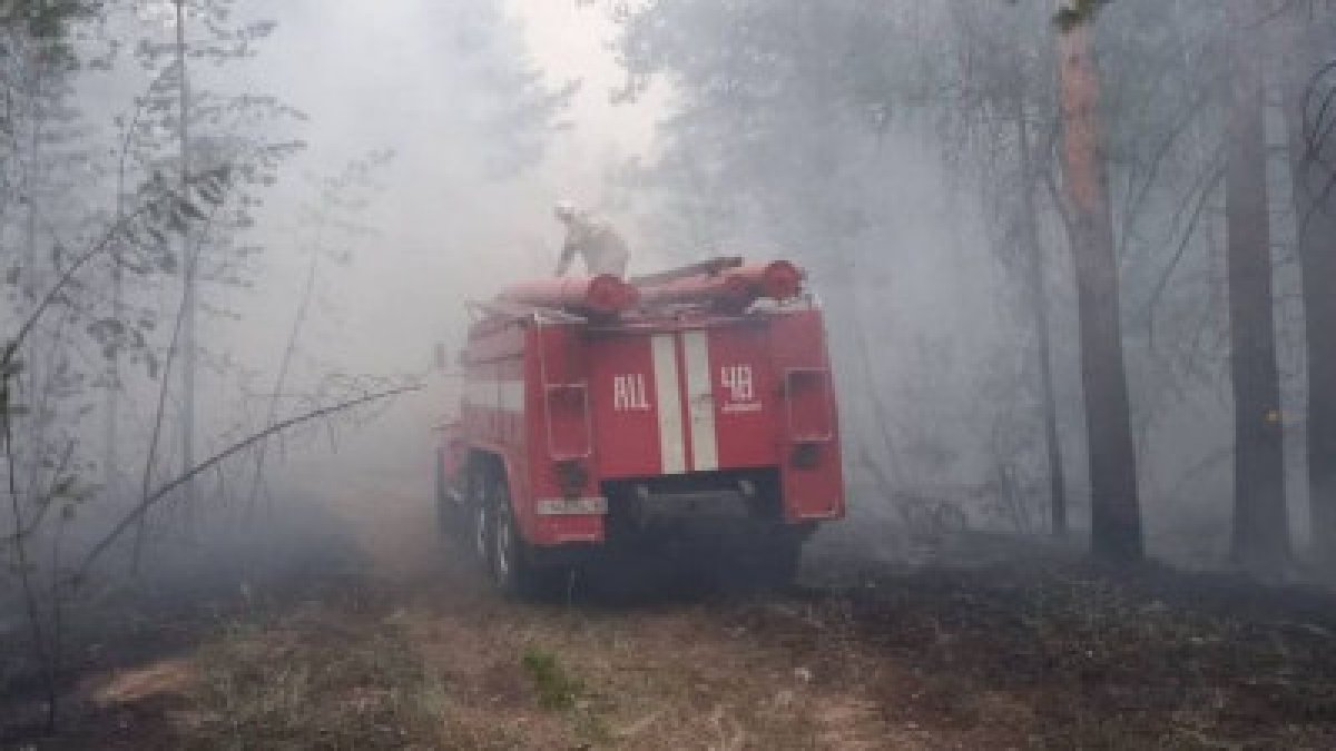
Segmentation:
{"type": "Polygon", "coordinates": [[[546,279],[473,307],[437,504],[504,592],[703,539],[786,580],[843,517],[826,334],[792,263],[546,279]]]}

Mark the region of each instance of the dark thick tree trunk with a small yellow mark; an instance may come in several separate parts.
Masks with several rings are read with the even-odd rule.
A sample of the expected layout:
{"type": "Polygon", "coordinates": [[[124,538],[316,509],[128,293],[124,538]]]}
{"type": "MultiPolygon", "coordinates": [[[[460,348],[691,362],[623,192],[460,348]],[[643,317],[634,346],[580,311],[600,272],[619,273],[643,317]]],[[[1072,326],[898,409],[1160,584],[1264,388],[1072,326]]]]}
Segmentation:
{"type": "Polygon", "coordinates": [[[1289,556],[1280,373],[1272,298],[1271,206],[1260,49],[1250,41],[1260,5],[1230,7],[1230,107],[1225,224],[1230,371],[1234,393],[1233,556],[1276,572],[1289,556]]]}

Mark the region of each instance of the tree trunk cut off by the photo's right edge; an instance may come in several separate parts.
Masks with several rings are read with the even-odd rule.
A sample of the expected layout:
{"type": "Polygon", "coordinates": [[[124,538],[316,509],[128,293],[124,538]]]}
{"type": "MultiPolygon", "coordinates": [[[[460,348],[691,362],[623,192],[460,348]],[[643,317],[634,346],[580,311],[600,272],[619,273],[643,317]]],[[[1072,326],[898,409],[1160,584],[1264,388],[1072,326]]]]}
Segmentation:
{"type": "MultiPolygon", "coordinates": [[[[1336,135],[1321,132],[1336,123],[1328,112],[1319,122],[1321,96],[1336,86],[1336,71],[1315,79],[1323,59],[1312,19],[1293,12],[1284,40],[1285,122],[1293,186],[1296,237],[1303,270],[1304,326],[1308,349],[1308,509],[1316,563],[1336,575],[1336,135]],[[1325,82],[1325,86],[1323,83],[1325,82]],[[1319,86],[1319,90],[1312,90],[1319,86]]],[[[1323,20],[1331,28],[1331,16],[1323,20]]]]}

